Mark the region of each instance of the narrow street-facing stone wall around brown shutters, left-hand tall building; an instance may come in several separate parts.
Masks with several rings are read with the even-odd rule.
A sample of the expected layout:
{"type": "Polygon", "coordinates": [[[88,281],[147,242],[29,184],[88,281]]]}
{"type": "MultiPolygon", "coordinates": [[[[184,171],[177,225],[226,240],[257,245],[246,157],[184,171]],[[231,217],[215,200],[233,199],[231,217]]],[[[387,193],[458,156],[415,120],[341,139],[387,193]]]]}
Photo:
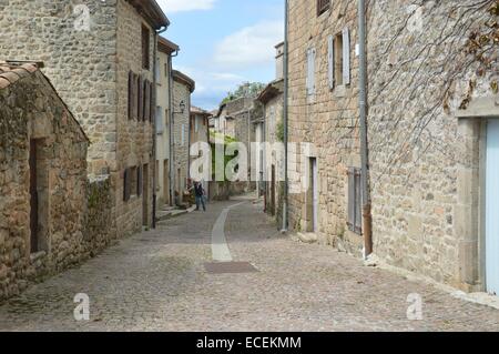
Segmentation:
{"type": "Polygon", "coordinates": [[[152,198],[155,162],[152,160],[153,124],[145,121],[129,120],[128,90],[129,72],[142,74],[145,80],[153,82],[154,63],[154,31],[145,23],[128,1],[119,0],[116,55],[116,125],[109,134],[118,140],[115,168],[111,169],[111,181],[116,188],[116,230],[120,235],[132,234],[142,230],[142,225],[152,224],[152,198]],[[142,26],[150,30],[150,70],[142,68],[142,26]],[[133,195],[128,202],[123,201],[124,170],[142,166],[143,191],[141,196],[133,195]]]}

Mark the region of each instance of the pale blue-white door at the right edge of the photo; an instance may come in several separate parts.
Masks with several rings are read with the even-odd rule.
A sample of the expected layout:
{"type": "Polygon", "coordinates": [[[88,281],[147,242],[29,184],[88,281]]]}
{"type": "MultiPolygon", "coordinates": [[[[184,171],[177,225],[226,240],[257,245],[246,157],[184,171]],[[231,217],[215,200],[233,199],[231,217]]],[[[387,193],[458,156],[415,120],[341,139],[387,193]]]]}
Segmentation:
{"type": "Polygon", "coordinates": [[[499,295],[499,119],[488,122],[486,169],[487,291],[499,295]]]}

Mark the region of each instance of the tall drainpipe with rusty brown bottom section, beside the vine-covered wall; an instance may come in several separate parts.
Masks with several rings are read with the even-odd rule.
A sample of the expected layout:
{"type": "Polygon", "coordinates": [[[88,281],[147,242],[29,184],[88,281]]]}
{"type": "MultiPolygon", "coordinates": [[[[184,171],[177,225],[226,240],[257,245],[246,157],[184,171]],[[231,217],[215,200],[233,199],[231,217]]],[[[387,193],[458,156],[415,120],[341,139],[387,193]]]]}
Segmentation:
{"type": "Polygon", "coordinates": [[[373,253],[373,215],[368,185],[369,161],[367,145],[367,53],[366,53],[366,2],[358,1],[358,42],[359,42],[359,115],[360,115],[360,160],[363,194],[364,256],[373,253]]]}

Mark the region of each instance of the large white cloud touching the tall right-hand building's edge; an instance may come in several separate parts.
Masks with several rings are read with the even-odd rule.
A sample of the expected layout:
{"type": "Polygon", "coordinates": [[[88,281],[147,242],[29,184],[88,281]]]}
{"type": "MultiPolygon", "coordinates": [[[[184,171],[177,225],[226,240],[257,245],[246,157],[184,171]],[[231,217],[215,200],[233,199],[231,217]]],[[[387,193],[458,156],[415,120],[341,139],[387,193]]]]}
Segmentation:
{"type": "Polygon", "coordinates": [[[265,21],[243,28],[218,42],[214,62],[225,69],[247,69],[274,60],[274,45],[284,39],[283,21],[265,21]]]}

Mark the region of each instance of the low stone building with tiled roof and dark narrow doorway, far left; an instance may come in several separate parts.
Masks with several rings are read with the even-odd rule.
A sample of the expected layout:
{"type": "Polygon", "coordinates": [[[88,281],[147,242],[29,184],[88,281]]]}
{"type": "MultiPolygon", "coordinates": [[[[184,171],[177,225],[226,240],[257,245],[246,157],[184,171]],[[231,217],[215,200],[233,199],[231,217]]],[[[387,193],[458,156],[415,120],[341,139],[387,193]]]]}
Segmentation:
{"type": "Polygon", "coordinates": [[[34,64],[0,61],[0,138],[1,301],[94,250],[95,220],[85,218],[89,140],[34,64]]]}

